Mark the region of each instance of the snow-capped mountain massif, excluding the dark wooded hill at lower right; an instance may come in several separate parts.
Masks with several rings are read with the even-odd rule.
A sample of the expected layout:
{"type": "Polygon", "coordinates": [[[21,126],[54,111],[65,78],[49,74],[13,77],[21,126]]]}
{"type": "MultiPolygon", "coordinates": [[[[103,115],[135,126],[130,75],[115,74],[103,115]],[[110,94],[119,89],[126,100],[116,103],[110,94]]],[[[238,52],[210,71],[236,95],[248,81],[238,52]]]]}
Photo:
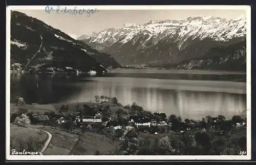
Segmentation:
{"type": "Polygon", "coordinates": [[[246,18],[226,20],[197,16],[125,24],[93,33],[83,42],[109,53],[122,65],[179,63],[203,56],[209,49],[245,40],[246,18]]]}

